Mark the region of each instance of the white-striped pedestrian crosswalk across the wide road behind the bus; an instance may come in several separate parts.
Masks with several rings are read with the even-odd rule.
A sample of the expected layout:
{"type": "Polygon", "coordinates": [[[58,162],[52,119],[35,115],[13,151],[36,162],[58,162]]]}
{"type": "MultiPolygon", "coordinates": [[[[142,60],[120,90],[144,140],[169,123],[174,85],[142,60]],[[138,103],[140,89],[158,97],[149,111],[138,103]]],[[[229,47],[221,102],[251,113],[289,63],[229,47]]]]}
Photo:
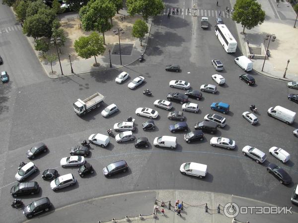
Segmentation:
{"type": "Polygon", "coordinates": [[[225,11],[217,11],[212,9],[193,9],[193,8],[165,8],[163,11],[164,15],[196,15],[196,16],[207,16],[207,17],[223,17],[230,18],[231,13],[225,11]]]}

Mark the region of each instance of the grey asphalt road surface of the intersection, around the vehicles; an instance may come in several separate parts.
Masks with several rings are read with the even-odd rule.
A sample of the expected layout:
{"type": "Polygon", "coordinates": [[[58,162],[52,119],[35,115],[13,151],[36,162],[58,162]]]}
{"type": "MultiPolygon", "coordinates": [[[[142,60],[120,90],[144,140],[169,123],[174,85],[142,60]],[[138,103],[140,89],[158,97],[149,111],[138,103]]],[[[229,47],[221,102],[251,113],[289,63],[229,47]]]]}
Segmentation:
{"type": "MultiPolygon", "coordinates": [[[[183,5],[183,1],[166,3],[166,7],[177,5],[183,5]]],[[[203,5],[206,5],[206,9],[216,10],[215,3],[204,2],[203,5]]],[[[185,8],[187,7],[185,5],[185,8]]],[[[0,15],[0,21],[4,21],[1,26],[14,24],[6,6],[0,5],[0,15]]],[[[5,216],[5,222],[25,220],[21,211],[11,209],[12,197],[9,190],[16,183],[14,175],[18,163],[28,161],[26,151],[41,141],[48,145],[49,152],[33,161],[40,172],[33,174],[28,180],[38,181],[42,189],[38,195],[21,197],[25,204],[47,196],[55,208],[60,208],[93,197],[121,192],[190,189],[234,194],[279,206],[291,206],[294,184],[281,185],[267,173],[266,165],[273,162],[285,167],[293,182],[297,182],[298,172],[295,165],[298,162],[298,153],[295,146],[298,139],[293,136],[292,131],[298,128],[298,122],[289,126],[269,117],[266,112],[275,105],[297,111],[297,105],[287,99],[287,95],[296,90],[287,88],[282,81],[254,72],[251,74],[255,77],[256,85],[247,86],[239,80],[238,74],[242,71],[233,62],[233,58],[240,55],[239,50],[235,54],[226,54],[214,34],[215,17],[210,18],[209,30],[202,30],[196,19],[193,16],[185,16],[184,19],[175,15],[170,19],[166,15],[157,16],[151,28],[144,63],[136,62],[122,69],[55,80],[46,77],[20,31],[0,34],[1,56],[4,59],[0,68],[6,69],[10,74],[10,82],[0,88],[0,123],[4,131],[1,134],[0,165],[4,171],[0,175],[0,215],[5,216]],[[7,44],[3,45],[3,41],[7,44]],[[206,134],[203,141],[185,143],[184,133],[170,133],[168,126],[175,121],[168,120],[167,111],[161,109],[156,109],[159,112],[155,121],[157,128],[144,132],[141,125],[147,119],[138,117],[135,110],[139,107],[153,108],[154,100],[166,99],[168,92],[184,92],[171,89],[168,86],[170,80],[189,81],[193,89],[199,89],[204,83],[215,84],[211,79],[211,75],[217,73],[211,65],[211,59],[214,58],[221,59],[224,63],[225,69],[219,73],[225,77],[226,84],[219,87],[219,92],[215,95],[203,93],[201,101],[191,100],[199,104],[200,112],[185,112],[186,121],[189,130],[194,130],[195,122],[203,120],[205,114],[213,113],[210,109],[212,102],[223,101],[230,104],[230,112],[224,115],[227,125],[215,135],[232,138],[236,141],[236,149],[227,151],[212,147],[209,144],[209,140],[214,136],[212,134],[206,134]],[[166,72],[164,65],[169,63],[181,64],[182,71],[166,72]],[[115,77],[122,71],[130,73],[130,80],[139,75],[144,76],[145,84],[136,90],[127,88],[130,80],[121,85],[116,84],[115,77]],[[152,91],[151,97],[142,94],[145,88],[152,91]],[[96,91],[106,96],[102,107],[83,117],[75,115],[72,103],[77,98],[83,99],[96,91]],[[102,117],[102,109],[112,103],[117,104],[120,111],[108,118],[102,117]],[[257,116],[260,123],[256,126],[250,125],[241,116],[250,104],[255,104],[259,111],[257,116]],[[146,136],[152,145],[156,136],[175,135],[178,138],[178,147],[167,150],[150,146],[142,150],[135,149],[133,142],[118,144],[111,139],[105,149],[92,145],[92,154],[87,161],[94,167],[95,174],[80,178],[76,168],[60,167],[60,159],[69,156],[71,146],[77,145],[92,133],[105,134],[114,123],[125,120],[129,115],[136,118],[136,137],[146,136]],[[244,157],[241,150],[245,145],[261,149],[267,154],[268,161],[260,165],[244,157]],[[272,146],[282,147],[291,154],[288,164],[281,164],[269,155],[268,150],[272,146]],[[130,171],[105,178],[102,168],[121,159],[127,161],[130,171]],[[207,164],[207,177],[198,179],[180,174],[179,167],[185,162],[207,164]],[[41,179],[41,172],[52,167],[57,168],[61,175],[74,173],[77,183],[73,187],[53,192],[50,183],[41,179]]],[[[231,33],[236,34],[231,19],[224,19],[224,22],[231,33]]],[[[180,104],[173,104],[174,110],[181,111],[180,104]]],[[[297,211],[297,207],[294,210],[297,211]]]]}

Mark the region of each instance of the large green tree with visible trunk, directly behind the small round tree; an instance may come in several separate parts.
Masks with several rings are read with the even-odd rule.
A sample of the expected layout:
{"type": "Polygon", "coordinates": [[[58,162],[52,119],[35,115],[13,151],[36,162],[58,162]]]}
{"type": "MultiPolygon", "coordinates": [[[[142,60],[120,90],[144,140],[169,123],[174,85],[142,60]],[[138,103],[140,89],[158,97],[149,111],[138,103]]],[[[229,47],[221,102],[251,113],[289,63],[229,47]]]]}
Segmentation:
{"type": "Polygon", "coordinates": [[[107,0],[90,0],[79,10],[79,18],[83,30],[102,33],[103,44],[105,44],[104,33],[112,28],[109,19],[115,13],[115,5],[107,0]]]}

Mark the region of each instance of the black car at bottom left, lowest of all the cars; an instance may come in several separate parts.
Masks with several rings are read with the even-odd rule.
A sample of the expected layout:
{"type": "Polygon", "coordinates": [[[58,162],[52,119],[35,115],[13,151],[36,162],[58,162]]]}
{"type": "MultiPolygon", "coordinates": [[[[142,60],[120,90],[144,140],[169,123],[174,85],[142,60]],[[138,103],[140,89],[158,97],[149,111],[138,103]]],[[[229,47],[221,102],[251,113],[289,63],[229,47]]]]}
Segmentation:
{"type": "Polygon", "coordinates": [[[51,208],[50,199],[47,197],[43,197],[37,201],[33,201],[28,204],[24,209],[23,213],[27,218],[32,218],[34,215],[38,213],[49,211],[51,208]]]}

